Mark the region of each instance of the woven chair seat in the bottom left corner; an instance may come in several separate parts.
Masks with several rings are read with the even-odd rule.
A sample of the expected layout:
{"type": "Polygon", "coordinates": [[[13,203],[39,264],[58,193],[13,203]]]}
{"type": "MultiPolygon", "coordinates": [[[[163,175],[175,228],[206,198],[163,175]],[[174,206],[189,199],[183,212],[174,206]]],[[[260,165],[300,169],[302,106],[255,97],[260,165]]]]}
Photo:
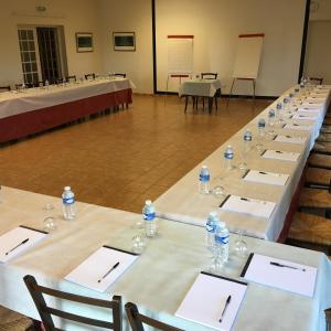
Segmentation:
{"type": "Polygon", "coordinates": [[[30,318],[0,306],[0,331],[23,331],[32,325],[30,318]]]}

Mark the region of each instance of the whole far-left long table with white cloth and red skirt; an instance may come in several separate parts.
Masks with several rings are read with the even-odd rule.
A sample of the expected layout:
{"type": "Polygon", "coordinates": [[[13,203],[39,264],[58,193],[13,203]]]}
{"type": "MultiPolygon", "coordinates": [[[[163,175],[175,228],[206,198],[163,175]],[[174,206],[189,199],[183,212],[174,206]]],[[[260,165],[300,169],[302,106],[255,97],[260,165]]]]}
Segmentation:
{"type": "Polygon", "coordinates": [[[128,78],[116,77],[0,93],[0,142],[130,104],[132,87],[128,78]]]}

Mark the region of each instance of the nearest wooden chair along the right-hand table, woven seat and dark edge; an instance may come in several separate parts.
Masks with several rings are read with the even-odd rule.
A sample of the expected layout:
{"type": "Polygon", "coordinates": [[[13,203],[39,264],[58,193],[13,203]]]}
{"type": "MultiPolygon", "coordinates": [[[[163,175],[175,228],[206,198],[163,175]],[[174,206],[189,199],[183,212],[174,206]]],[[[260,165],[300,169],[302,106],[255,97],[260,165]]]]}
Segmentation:
{"type": "Polygon", "coordinates": [[[295,213],[287,244],[331,254],[331,221],[307,213],[295,213]]]}

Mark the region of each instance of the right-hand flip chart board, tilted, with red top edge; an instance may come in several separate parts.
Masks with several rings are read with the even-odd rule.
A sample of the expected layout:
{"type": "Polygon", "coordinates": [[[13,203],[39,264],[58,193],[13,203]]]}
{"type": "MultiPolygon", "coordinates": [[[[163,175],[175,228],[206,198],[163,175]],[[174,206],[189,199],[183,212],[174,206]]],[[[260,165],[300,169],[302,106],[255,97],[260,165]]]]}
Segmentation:
{"type": "Polygon", "coordinates": [[[233,73],[235,78],[257,77],[263,42],[264,33],[239,35],[233,73]]]}

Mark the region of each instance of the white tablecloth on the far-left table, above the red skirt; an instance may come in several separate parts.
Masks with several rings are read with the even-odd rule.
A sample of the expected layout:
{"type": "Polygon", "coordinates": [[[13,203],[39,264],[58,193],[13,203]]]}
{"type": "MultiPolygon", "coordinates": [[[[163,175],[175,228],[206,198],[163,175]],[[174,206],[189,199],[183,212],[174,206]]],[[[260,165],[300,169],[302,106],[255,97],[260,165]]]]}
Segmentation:
{"type": "Polygon", "coordinates": [[[0,93],[0,119],[134,87],[128,78],[116,78],[84,81],[66,86],[51,85],[49,88],[28,88],[24,93],[4,92],[0,93]]]}

